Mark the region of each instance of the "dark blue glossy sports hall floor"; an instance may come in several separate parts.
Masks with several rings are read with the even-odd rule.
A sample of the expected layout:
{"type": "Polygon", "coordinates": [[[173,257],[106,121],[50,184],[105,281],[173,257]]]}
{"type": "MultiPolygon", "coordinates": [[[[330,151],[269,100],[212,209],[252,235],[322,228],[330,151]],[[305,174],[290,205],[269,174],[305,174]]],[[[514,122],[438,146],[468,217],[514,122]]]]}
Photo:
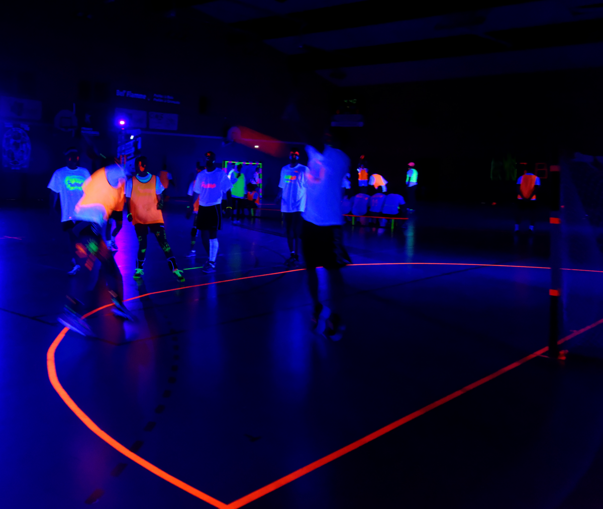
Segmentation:
{"type": "MultiPolygon", "coordinates": [[[[200,242],[185,257],[191,222],[168,210],[183,285],[151,235],[134,281],[125,222],[116,260],[137,321],[106,308],[89,318],[96,337],[67,333],[58,380],[109,436],[226,507],[547,345],[550,272],[525,267],[548,266],[548,226],[514,236],[510,213],[434,205],[395,231],[344,226],[356,265],[339,342],[310,330],[280,220],[224,221],[207,275],[200,242]]],[[[57,217],[0,210],[0,242],[0,505],[213,507],[101,440],[51,386],[70,268],[57,217]]],[[[572,302],[592,308],[603,273],[566,272],[572,302]]],[[[565,363],[535,357],[243,507],[603,507],[603,363],[572,341],[565,363]]]]}

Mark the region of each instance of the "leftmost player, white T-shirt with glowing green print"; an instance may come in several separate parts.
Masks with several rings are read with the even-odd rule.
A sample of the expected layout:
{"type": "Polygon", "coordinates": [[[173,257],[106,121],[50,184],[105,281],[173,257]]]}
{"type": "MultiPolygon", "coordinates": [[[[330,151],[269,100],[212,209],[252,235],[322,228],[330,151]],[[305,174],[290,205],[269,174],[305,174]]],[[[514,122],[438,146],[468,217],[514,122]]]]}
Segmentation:
{"type": "MultiPolygon", "coordinates": [[[[84,194],[81,186],[89,178],[90,172],[86,168],[77,165],[80,161],[77,148],[69,147],[65,151],[65,157],[67,158],[67,166],[63,166],[52,173],[48,189],[51,190],[52,194],[52,207],[55,208],[57,200],[60,201],[61,225],[63,231],[69,235],[69,244],[73,255],[75,254],[75,236],[72,231],[74,227],[74,207],[84,194]]],[[[73,276],[81,267],[75,263],[75,257],[71,261],[74,266],[68,274],[73,276]]]]}

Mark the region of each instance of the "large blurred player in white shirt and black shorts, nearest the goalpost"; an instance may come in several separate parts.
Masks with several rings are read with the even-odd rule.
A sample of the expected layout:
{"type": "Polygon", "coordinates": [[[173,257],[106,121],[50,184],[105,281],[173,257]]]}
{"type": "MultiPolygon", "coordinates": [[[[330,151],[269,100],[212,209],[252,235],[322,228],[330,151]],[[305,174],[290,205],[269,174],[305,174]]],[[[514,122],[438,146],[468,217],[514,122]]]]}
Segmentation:
{"type": "Polygon", "coordinates": [[[323,334],[333,341],[341,339],[346,329],[339,314],[344,286],[339,269],[351,263],[343,246],[341,229],[341,181],[350,170],[350,158],[335,148],[335,143],[333,134],[327,132],[323,142],[306,146],[306,210],[301,214],[301,247],[308,272],[308,287],[314,302],[312,321],[318,330],[321,317],[325,317],[323,334]],[[324,267],[329,274],[332,311],[320,302],[317,267],[324,267]]]}

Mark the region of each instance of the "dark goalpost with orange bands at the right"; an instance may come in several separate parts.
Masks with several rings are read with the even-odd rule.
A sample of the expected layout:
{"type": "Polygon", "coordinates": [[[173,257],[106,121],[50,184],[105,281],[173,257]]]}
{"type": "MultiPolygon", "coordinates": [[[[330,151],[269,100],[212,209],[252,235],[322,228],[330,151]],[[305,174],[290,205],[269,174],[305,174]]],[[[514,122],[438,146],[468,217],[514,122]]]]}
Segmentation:
{"type": "Polygon", "coordinates": [[[560,308],[561,308],[561,167],[549,168],[550,213],[549,236],[551,242],[551,287],[549,289],[549,357],[560,358],[560,308]]]}

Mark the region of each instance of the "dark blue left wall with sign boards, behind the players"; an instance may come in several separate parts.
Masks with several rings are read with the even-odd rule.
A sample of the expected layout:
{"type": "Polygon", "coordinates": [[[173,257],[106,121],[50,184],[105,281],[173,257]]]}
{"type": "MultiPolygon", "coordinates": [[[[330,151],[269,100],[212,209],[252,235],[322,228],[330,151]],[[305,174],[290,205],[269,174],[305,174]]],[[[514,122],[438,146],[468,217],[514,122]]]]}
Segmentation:
{"type": "MultiPolygon", "coordinates": [[[[31,142],[27,168],[0,168],[4,202],[45,203],[46,185],[64,166],[68,146],[92,157],[115,153],[115,108],[178,115],[177,130],[147,127],[143,131],[163,134],[142,136],[151,170],[159,172],[166,164],[173,173],[172,195],[186,195],[188,175],[209,149],[218,162],[262,161],[265,186],[275,194],[280,167],[288,159],[236,143],[224,146],[221,137],[230,126],[242,125],[297,142],[308,129],[319,128],[323,120],[318,119],[329,108],[332,86],[322,78],[292,72],[274,49],[178,2],[24,2],[6,13],[0,19],[0,96],[40,101],[42,110],[38,117],[27,111],[19,117],[23,112],[10,111],[2,99],[0,136],[23,128],[31,142]],[[177,8],[166,10],[168,4],[177,8]],[[117,90],[126,95],[118,96],[117,90]],[[128,91],[170,96],[180,104],[128,97],[128,91]],[[78,129],[57,128],[57,113],[74,106],[78,129]],[[99,136],[82,136],[81,127],[99,136]]],[[[81,158],[81,166],[94,164],[86,155],[81,158]]]]}

